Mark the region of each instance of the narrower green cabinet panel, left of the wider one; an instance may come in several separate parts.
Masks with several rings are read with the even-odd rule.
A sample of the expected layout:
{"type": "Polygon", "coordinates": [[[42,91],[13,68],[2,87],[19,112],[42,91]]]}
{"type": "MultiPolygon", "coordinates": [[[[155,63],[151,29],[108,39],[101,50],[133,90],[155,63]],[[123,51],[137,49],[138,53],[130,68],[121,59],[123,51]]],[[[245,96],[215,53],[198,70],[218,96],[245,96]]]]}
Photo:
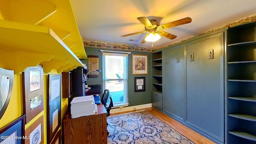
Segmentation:
{"type": "Polygon", "coordinates": [[[184,121],[186,117],[184,45],[162,52],[163,60],[163,110],[184,121]]]}

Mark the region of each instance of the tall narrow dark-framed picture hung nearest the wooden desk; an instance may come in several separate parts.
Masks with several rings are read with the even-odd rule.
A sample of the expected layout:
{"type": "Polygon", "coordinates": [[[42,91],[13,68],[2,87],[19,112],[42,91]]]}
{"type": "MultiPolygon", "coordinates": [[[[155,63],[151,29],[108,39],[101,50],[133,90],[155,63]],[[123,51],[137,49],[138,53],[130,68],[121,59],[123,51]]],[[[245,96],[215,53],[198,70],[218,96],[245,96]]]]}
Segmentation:
{"type": "Polygon", "coordinates": [[[48,96],[47,96],[47,144],[60,127],[60,100],[61,100],[61,74],[48,75],[48,96]]]}

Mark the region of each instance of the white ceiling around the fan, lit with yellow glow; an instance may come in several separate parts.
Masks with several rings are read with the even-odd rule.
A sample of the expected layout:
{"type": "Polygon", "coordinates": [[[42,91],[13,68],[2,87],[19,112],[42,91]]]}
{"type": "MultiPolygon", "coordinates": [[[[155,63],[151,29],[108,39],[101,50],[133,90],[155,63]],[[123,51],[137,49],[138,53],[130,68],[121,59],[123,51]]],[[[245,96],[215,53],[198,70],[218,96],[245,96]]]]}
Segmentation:
{"type": "Polygon", "coordinates": [[[83,40],[151,47],[141,44],[144,25],[137,17],[145,16],[165,24],[190,17],[192,22],[163,31],[177,36],[154,42],[159,48],[222,26],[256,13],[255,0],[70,0],[83,40]],[[138,40],[129,41],[129,40],[138,40]]]}

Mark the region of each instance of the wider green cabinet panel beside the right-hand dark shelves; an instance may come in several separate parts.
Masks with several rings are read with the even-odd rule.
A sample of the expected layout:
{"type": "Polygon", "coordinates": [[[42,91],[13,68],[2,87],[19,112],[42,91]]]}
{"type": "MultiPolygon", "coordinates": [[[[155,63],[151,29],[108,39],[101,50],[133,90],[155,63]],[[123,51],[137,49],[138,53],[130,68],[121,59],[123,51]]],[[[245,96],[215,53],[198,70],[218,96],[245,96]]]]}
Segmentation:
{"type": "Polygon", "coordinates": [[[224,33],[186,44],[187,122],[224,142],[224,33]]]}

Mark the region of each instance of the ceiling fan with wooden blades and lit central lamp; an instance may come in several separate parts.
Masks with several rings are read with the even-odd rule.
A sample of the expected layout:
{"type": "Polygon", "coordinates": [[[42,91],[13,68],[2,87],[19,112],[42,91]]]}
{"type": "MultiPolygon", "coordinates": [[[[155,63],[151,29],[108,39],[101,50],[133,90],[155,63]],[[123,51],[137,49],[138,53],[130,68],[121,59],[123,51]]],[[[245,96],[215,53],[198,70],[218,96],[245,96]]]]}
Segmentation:
{"type": "Polygon", "coordinates": [[[180,20],[176,20],[176,21],[173,21],[173,22],[169,22],[169,23],[160,25],[160,23],[157,22],[156,20],[154,20],[154,19],[149,20],[147,17],[138,17],[137,19],[142,24],[144,24],[145,30],[141,31],[141,32],[135,32],[135,33],[132,33],[132,34],[126,34],[126,35],[123,35],[121,37],[149,32],[143,38],[143,40],[141,42],[142,44],[145,43],[145,42],[155,42],[155,41],[159,40],[161,38],[161,36],[169,38],[169,39],[172,40],[172,39],[176,38],[177,36],[175,36],[174,34],[170,34],[168,32],[164,32],[162,30],[164,30],[166,28],[171,28],[171,27],[174,27],[174,26],[179,26],[179,25],[182,25],[182,24],[188,24],[192,21],[192,19],[190,17],[186,17],[186,18],[182,18],[180,20]],[[156,39],[150,39],[149,38],[150,36],[152,36],[152,37],[156,36],[156,39]]]}

